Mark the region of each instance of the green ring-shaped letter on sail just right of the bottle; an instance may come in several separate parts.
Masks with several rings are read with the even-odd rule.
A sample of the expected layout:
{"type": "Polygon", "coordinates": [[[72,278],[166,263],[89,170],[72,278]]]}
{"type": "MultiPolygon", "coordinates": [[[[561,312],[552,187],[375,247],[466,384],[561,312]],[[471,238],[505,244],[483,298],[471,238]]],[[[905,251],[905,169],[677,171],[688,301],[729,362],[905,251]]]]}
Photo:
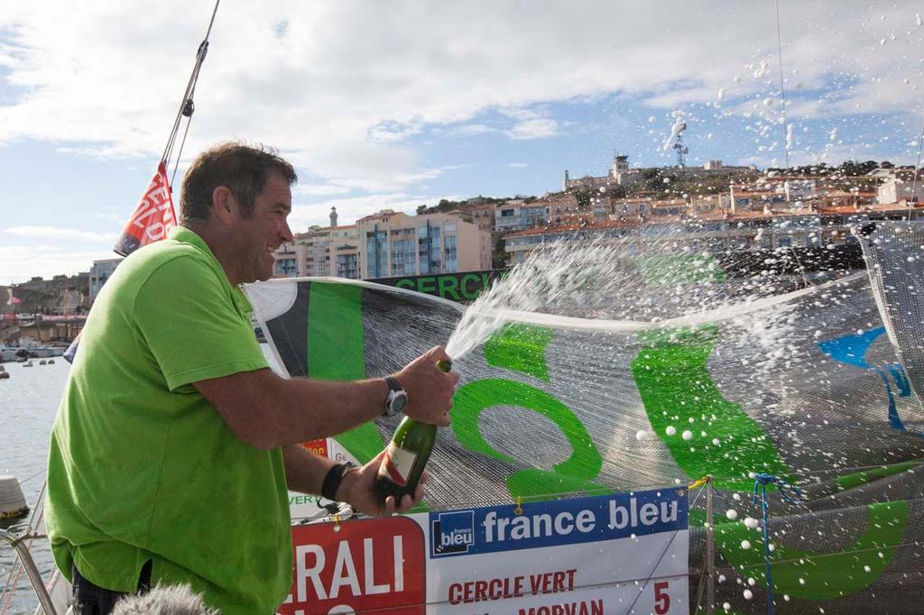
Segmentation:
{"type": "MultiPolygon", "coordinates": [[[[553,421],[571,444],[571,456],[553,469],[525,468],[507,476],[507,489],[512,498],[541,500],[577,492],[589,494],[612,493],[613,489],[592,482],[600,473],[602,458],[590,434],[573,412],[547,392],[535,387],[505,379],[482,379],[469,382],[456,391],[452,416],[456,439],[469,451],[509,464],[517,460],[494,450],[481,435],[478,427],[480,414],[497,405],[517,405],[528,408],[553,421]]],[[[529,460],[519,460],[529,464],[529,460]]]]}

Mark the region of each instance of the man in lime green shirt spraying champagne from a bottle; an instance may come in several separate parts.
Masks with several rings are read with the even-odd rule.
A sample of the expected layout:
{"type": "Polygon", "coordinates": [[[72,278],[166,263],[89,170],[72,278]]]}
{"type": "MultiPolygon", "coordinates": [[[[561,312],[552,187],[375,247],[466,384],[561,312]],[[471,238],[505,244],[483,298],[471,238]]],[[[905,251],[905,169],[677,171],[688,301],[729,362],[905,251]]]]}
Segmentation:
{"type": "Polygon", "coordinates": [[[224,615],[273,613],[292,580],[287,489],[389,515],[380,454],[352,468],[299,445],[383,414],[449,424],[456,374],[433,348],[386,380],[283,379],[251,329],[241,283],[292,241],[292,166],[225,143],[184,177],[181,226],[125,259],[81,333],[52,433],[46,525],[78,615],[188,583],[224,615]],[[387,402],[386,402],[387,400],[387,402]]]}

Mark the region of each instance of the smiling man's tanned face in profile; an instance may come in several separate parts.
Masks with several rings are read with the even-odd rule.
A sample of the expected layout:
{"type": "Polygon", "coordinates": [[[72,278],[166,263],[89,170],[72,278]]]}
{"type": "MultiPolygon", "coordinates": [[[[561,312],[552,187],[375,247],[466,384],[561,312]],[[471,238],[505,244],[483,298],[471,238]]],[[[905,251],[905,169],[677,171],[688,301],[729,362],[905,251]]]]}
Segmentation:
{"type": "Polygon", "coordinates": [[[292,211],[292,190],[286,178],[270,173],[254,202],[250,218],[237,220],[237,280],[249,283],[273,277],[274,250],[292,241],[286,218],[292,211]]]}

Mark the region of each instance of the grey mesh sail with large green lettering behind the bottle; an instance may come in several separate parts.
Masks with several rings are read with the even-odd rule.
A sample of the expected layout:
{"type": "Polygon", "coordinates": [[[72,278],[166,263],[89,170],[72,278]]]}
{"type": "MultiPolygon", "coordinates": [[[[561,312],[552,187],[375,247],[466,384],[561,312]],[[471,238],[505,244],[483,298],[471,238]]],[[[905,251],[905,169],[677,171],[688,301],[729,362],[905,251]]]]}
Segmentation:
{"type": "MultiPolygon", "coordinates": [[[[761,538],[743,520],[760,518],[750,473],[768,473],[802,490],[798,503],[769,493],[779,612],[918,612],[924,413],[912,389],[924,365],[914,294],[924,281],[908,257],[924,244],[905,227],[882,243],[885,254],[869,258],[878,259],[873,271],[882,275],[873,277],[904,361],[862,271],[809,277],[768,268],[732,278],[710,259],[634,248],[609,271],[623,292],[606,289],[606,301],[569,291],[539,311],[505,310],[490,337],[455,357],[453,426],[440,430],[426,505],[548,500],[710,475],[726,577],[718,603],[758,612],[761,538]],[[734,520],[725,515],[732,509],[734,520]]],[[[292,376],[343,380],[392,373],[446,344],[466,309],[333,279],[261,283],[248,294],[292,376]]],[[[371,459],[396,420],[337,440],[371,459]]],[[[690,515],[694,573],[703,565],[703,502],[690,515]]]]}

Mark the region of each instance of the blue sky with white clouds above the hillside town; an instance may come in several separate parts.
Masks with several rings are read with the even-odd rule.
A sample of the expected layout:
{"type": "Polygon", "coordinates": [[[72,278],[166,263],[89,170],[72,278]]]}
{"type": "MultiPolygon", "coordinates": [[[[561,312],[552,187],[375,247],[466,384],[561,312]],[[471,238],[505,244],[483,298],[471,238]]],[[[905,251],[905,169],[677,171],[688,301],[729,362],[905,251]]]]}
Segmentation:
{"type": "MultiPolygon", "coordinates": [[[[115,256],[213,6],[0,3],[0,284],[115,256]]],[[[295,164],[296,232],[332,206],[346,224],[540,196],[615,153],[675,164],[678,118],[688,165],[915,163],[924,5],[779,11],[782,95],[773,1],[225,0],[175,194],[198,151],[241,139],[295,164]]]]}

